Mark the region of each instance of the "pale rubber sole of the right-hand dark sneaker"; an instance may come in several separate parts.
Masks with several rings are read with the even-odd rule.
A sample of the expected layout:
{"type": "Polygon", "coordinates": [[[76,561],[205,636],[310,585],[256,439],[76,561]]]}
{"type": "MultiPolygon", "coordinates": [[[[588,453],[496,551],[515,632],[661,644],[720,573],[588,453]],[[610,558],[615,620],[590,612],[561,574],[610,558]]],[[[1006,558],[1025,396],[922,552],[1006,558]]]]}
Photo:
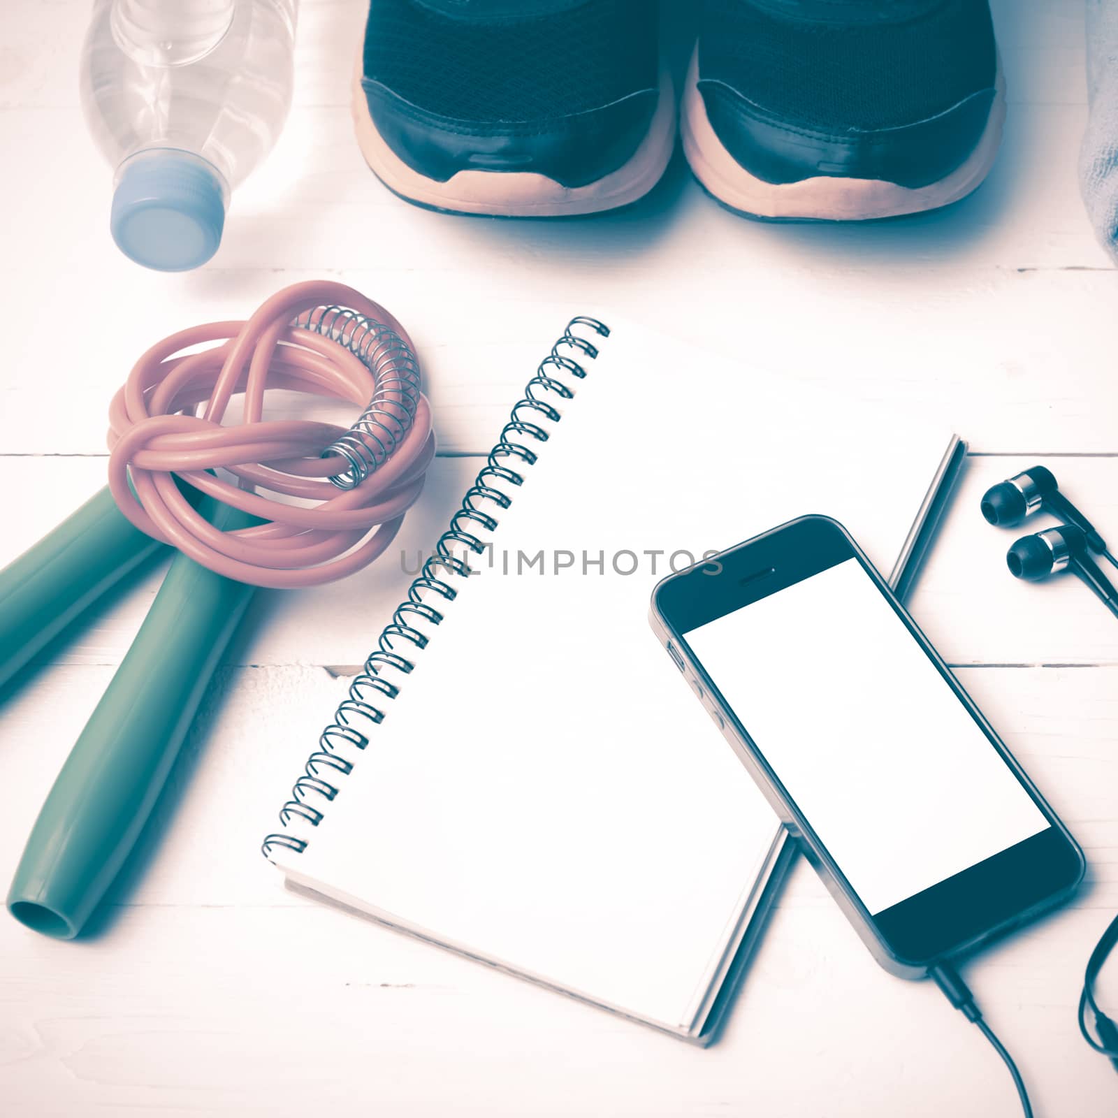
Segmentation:
{"type": "Polygon", "coordinates": [[[880,179],[818,176],[798,182],[766,182],[726,150],[707,116],[699,92],[699,48],[683,88],[680,132],[695,178],[719,201],[747,217],[774,221],[866,221],[950,206],[969,195],[994,165],[1005,121],[1005,82],[998,63],[996,92],[986,127],[974,151],[950,174],[925,187],[880,179]]]}

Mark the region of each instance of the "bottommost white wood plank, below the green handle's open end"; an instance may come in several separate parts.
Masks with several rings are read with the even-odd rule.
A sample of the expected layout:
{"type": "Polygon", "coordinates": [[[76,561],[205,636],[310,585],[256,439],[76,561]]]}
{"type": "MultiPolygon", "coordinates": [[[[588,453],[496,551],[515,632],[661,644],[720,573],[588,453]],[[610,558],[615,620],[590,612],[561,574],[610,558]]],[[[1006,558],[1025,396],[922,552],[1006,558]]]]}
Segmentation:
{"type": "MultiPolygon", "coordinates": [[[[1095,916],[972,968],[1039,1115],[1114,1112],[1074,1026],[1095,916]]],[[[82,947],[30,946],[34,987],[0,964],[17,1115],[1020,1115],[977,1032],[832,910],[778,913],[707,1051],[324,909],[134,910],[82,947]]]]}

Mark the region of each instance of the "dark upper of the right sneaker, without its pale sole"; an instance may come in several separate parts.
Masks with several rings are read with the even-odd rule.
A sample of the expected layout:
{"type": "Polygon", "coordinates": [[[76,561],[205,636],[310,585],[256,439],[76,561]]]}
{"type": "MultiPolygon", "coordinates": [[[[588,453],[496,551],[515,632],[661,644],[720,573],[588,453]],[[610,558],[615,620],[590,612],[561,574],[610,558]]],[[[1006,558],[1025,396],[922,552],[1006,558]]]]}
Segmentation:
{"type": "Polygon", "coordinates": [[[935,181],[994,97],[986,0],[707,0],[699,44],[711,124],[771,182],[935,181]]]}

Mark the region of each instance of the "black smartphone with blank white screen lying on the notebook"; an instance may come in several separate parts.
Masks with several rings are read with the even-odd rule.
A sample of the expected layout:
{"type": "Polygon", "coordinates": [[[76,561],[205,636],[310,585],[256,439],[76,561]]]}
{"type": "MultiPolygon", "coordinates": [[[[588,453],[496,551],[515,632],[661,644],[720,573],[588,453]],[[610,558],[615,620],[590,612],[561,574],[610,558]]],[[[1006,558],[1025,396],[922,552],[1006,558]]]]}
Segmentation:
{"type": "Polygon", "coordinates": [[[920,977],[1076,890],[1079,846],[837,521],[671,575],[651,619],[887,970],[920,977]]]}

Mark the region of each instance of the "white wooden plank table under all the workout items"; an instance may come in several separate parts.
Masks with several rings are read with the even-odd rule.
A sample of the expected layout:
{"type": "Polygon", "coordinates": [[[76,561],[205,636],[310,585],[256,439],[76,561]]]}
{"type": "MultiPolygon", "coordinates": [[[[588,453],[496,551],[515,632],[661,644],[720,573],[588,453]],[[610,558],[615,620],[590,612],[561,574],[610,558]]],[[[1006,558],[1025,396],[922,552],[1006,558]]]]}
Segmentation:
{"type": "MultiPolygon", "coordinates": [[[[405,529],[413,547],[446,520],[470,456],[570,312],[666,323],[805,388],[837,386],[851,409],[889,398],[939,414],[974,454],[912,610],[1090,861],[1071,906],[967,976],[1038,1116],[1118,1112],[1118,1078],[1074,1017],[1083,964],[1118,910],[1118,626],[1073,579],[1010,579],[1010,537],[977,512],[988,484],[1041,461],[1118,534],[1118,274],[1076,186],[1078,0],[995,4],[1011,104],[977,196],[834,228],[736,218],[679,162],[644,205],[600,219],[408,207],[350,132],[362,0],[304,0],[280,146],[235,199],[214,262],[181,276],[143,272],[110,243],[111,174],[75,89],[87,4],[3,7],[0,561],[103,483],[105,409],[142,349],[300,278],[366,291],[420,349],[444,457],[405,529]]],[[[3,695],[4,889],[159,576],[115,595],[3,695]]],[[[332,709],[332,676],[361,661],[405,582],[375,567],[260,595],[91,934],[56,942],[0,917],[0,1112],[1018,1112],[976,1031],[930,985],[879,970],[803,865],[707,1051],[286,893],[260,836],[332,709]]],[[[1109,993],[1118,1005],[1118,982],[1109,993]]]]}

